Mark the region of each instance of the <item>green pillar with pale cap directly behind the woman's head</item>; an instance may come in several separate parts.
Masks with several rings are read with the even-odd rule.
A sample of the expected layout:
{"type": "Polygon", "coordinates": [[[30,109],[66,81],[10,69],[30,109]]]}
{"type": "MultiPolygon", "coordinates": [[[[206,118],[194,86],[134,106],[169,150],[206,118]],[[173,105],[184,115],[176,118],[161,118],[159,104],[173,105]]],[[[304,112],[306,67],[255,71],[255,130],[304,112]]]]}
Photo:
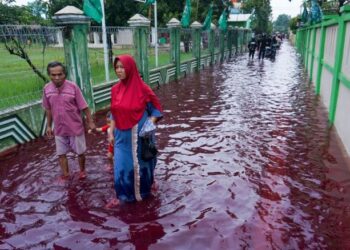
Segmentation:
{"type": "MultiPolygon", "coordinates": [[[[149,69],[148,69],[148,44],[150,20],[146,17],[136,14],[128,21],[130,27],[133,27],[133,40],[135,46],[135,60],[137,68],[140,71],[142,79],[149,84],[149,69]]],[[[156,41],[157,42],[157,41],[156,41]]]]}

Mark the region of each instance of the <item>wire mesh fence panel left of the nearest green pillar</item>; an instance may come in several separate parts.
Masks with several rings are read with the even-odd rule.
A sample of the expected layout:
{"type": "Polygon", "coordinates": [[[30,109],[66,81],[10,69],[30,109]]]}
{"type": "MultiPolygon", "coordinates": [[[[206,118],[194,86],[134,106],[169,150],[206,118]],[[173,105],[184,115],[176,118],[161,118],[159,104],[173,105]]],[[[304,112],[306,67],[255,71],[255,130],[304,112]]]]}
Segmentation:
{"type": "Polygon", "coordinates": [[[41,97],[46,65],[64,62],[58,27],[0,26],[0,110],[41,97]]]}

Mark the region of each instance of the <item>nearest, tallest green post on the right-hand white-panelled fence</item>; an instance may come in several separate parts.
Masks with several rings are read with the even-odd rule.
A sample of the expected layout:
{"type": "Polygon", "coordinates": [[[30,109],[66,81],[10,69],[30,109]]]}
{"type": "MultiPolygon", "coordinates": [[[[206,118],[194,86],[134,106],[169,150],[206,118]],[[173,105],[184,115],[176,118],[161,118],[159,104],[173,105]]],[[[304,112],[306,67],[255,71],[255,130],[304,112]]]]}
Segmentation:
{"type": "Polygon", "coordinates": [[[337,110],[337,102],[338,102],[338,93],[339,93],[339,75],[342,70],[343,65],[343,51],[344,51],[344,43],[345,43],[345,18],[344,15],[346,12],[350,12],[350,7],[344,6],[341,9],[342,15],[339,17],[338,21],[338,33],[337,33],[337,43],[336,43],[336,52],[335,52],[335,60],[334,60],[334,75],[332,79],[332,92],[331,92],[331,102],[329,107],[329,121],[332,125],[334,123],[335,113],[337,110]]]}

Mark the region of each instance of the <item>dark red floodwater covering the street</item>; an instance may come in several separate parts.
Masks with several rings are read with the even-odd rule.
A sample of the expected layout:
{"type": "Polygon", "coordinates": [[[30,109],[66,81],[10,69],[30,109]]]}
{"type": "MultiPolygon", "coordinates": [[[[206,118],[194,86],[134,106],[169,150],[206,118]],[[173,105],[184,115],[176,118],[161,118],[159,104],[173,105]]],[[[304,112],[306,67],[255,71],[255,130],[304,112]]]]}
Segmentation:
{"type": "Polygon", "coordinates": [[[53,141],[20,147],[0,162],[0,249],[349,249],[349,165],[306,79],[285,42],[162,85],[158,191],[115,209],[104,135],[66,184],[53,141]]]}

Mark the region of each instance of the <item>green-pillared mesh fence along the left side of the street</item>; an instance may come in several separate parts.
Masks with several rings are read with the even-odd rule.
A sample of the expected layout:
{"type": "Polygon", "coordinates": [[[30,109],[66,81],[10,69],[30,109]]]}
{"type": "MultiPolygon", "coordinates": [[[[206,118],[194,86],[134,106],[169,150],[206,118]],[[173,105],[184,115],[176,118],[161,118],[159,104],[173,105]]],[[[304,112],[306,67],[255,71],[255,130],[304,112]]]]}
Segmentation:
{"type": "MultiPolygon", "coordinates": [[[[143,79],[151,86],[180,79],[186,74],[228,59],[232,55],[230,44],[234,44],[230,40],[247,32],[233,29],[232,36],[215,28],[202,32],[198,22],[190,29],[181,29],[180,22],[175,19],[169,22],[168,28],[160,28],[158,31],[160,56],[159,67],[155,67],[152,59],[154,50],[149,39],[149,21],[135,15],[129,24],[130,27],[107,28],[107,40],[113,52],[111,54],[113,57],[124,53],[132,54],[143,79]]],[[[88,23],[80,21],[67,25],[34,28],[21,26],[1,30],[0,151],[45,133],[46,119],[40,99],[47,81],[44,80],[47,78],[45,67],[50,61],[66,63],[68,77],[72,77],[82,88],[93,110],[109,105],[110,89],[117,79],[111,63],[110,81],[105,79],[101,28],[88,27],[88,23]],[[5,44],[16,39],[32,58],[37,73],[34,73],[28,62],[10,55],[6,50],[5,44]]],[[[245,47],[243,43],[244,40],[241,41],[242,48],[245,47]]]]}

